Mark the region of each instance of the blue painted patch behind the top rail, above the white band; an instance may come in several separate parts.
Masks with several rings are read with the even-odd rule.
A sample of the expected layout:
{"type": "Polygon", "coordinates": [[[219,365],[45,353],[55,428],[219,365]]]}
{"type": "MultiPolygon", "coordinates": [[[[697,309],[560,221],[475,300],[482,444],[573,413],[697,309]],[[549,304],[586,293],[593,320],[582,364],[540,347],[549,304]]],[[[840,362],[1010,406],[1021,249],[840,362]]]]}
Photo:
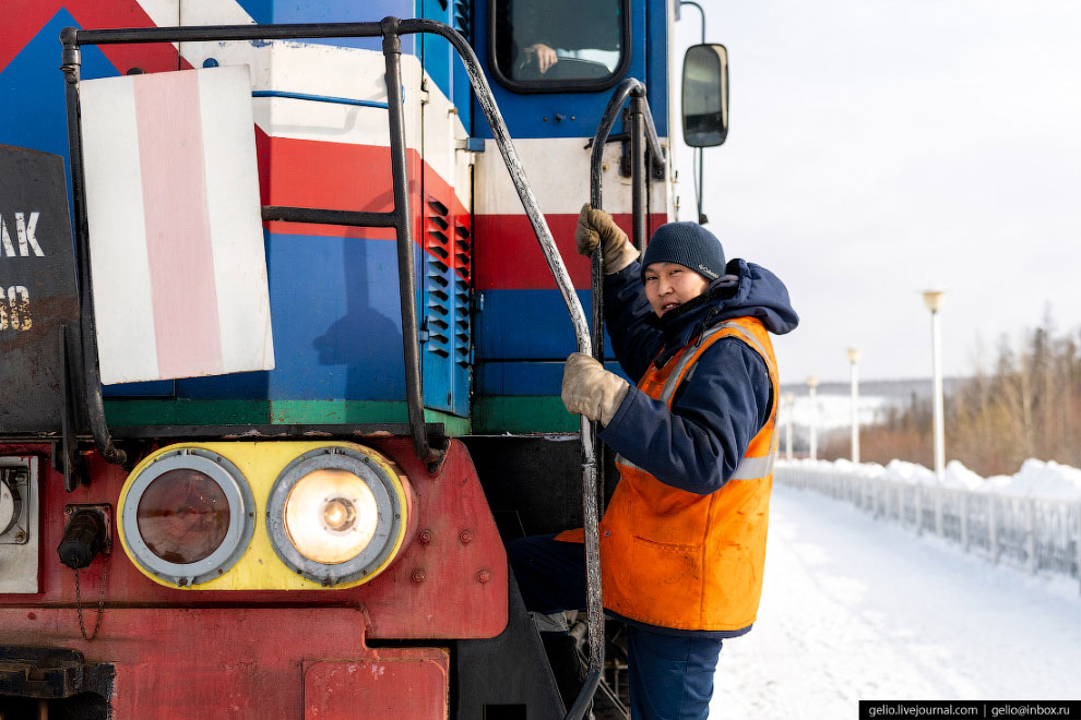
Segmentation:
{"type": "MultiPolygon", "coordinates": [[[[183,0],[183,2],[205,2],[205,0],[183,0]]],[[[414,0],[366,0],[365,2],[356,2],[356,0],[318,0],[316,2],[237,0],[237,4],[243,8],[260,25],[271,23],[369,23],[379,22],[388,15],[416,16],[414,0]]],[[[378,37],[305,41],[364,48],[366,50],[382,50],[383,47],[382,39],[378,37]]],[[[402,52],[413,55],[414,47],[415,43],[412,36],[402,37],[402,52]]]]}

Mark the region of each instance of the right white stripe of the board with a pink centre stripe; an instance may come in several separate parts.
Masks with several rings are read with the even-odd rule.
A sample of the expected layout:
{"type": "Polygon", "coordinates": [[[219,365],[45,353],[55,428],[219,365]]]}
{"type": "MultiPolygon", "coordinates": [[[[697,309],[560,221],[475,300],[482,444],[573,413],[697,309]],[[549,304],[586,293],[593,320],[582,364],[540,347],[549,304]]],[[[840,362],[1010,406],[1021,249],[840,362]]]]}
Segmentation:
{"type": "Polygon", "coordinates": [[[226,372],[274,368],[249,88],[246,67],[200,72],[206,213],[226,372]]]}

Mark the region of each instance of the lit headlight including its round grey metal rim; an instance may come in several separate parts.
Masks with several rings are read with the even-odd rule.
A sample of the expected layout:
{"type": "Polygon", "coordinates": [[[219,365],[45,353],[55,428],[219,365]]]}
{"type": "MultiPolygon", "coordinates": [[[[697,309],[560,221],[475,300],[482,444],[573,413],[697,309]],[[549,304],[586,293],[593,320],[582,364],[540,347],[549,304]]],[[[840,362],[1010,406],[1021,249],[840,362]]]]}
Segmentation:
{"type": "Polygon", "coordinates": [[[360,446],[321,447],[282,470],[266,503],[274,552],[324,587],[368,580],[401,549],[408,485],[394,466],[360,446]]]}

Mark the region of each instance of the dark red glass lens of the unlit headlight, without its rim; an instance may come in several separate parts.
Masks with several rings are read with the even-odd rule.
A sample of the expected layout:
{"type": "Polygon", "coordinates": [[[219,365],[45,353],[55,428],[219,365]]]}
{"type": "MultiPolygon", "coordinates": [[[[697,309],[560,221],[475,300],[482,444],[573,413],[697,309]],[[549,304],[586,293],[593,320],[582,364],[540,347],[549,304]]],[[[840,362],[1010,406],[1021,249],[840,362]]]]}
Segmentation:
{"type": "Polygon", "coordinates": [[[143,491],[135,511],[139,535],[155,555],[194,563],[222,547],[229,532],[229,500],[205,472],[163,472],[143,491]]]}

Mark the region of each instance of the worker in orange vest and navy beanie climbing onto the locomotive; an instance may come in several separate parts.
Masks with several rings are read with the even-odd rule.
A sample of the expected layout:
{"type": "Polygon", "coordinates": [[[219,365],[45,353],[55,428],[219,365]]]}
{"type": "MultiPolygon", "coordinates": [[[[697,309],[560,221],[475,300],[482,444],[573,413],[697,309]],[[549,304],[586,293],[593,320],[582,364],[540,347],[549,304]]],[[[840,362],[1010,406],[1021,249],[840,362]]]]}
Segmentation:
{"type": "MultiPolygon", "coordinates": [[[[562,399],[598,421],[619,481],[601,521],[608,615],[627,624],[631,717],[709,716],[723,640],[750,631],[762,591],[780,384],[770,333],[799,320],[784,284],[696,223],[669,223],[642,256],[589,205],[578,251],[604,248],[604,308],[632,386],[567,360],[562,399]]],[[[526,607],[585,608],[581,530],[508,553],[526,607]]]]}

